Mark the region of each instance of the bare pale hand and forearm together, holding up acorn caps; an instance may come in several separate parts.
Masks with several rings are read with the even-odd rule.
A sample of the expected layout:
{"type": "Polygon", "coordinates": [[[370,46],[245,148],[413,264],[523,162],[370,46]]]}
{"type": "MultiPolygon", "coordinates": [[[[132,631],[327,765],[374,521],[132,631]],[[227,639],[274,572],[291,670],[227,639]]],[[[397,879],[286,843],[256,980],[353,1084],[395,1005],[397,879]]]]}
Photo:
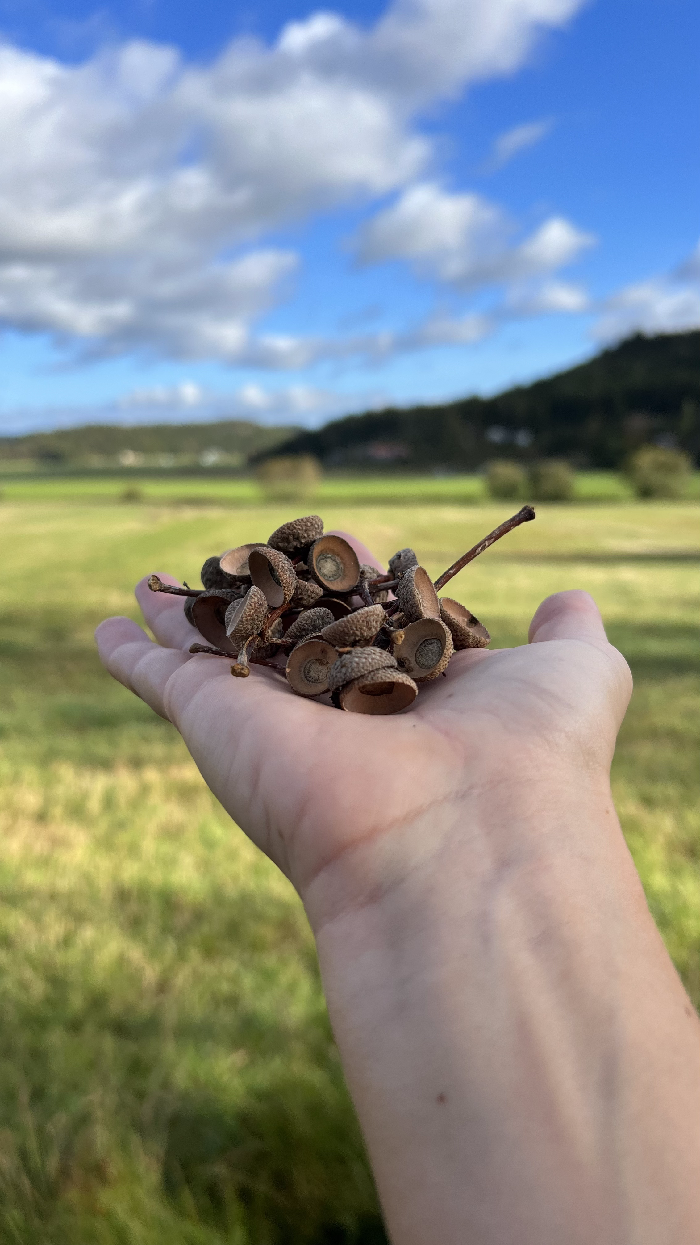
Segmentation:
{"type": "Polygon", "coordinates": [[[301,896],[394,1245],[698,1245],[700,1023],[613,807],[631,680],[593,600],[366,717],[136,595],[157,642],[108,619],[100,655],[301,896]]]}

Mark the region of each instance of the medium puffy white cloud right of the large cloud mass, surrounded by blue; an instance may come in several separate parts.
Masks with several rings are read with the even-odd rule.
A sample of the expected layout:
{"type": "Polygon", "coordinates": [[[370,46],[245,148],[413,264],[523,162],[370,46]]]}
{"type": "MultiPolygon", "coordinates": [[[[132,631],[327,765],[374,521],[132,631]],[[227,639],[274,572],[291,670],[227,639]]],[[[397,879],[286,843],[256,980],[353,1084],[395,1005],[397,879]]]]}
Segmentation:
{"type": "Polygon", "coordinates": [[[422,275],[473,289],[553,273],[594,242],[563,217],[551,217],[518,245],[509,233],[496,204],[422,182],[364,225],[356,251],[360,263],[404,259],[422,275]]]}

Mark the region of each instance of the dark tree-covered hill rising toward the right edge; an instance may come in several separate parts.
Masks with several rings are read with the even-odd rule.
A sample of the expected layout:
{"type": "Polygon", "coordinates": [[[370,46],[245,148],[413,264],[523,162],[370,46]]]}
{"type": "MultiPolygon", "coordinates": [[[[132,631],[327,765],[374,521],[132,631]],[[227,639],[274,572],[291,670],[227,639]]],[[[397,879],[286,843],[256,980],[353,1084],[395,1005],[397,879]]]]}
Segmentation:
{"type": "Polygon", "coordinates": [[[700,331],[638,335],[587,364],[493,398],[386,410],[303,432],[285,453],[329,467],[473,469],[494,457],[618,467],[655,441],[700,453],[700,331]]]}

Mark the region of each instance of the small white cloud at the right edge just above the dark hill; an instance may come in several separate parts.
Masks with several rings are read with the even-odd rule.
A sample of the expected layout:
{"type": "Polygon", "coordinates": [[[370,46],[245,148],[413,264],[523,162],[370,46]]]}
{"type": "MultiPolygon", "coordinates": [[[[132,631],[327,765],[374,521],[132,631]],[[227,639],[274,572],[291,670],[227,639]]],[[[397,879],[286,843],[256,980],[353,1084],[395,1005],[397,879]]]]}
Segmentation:
{"type": "Polygon", "coordinates": [[[676,269],[627,285],[605,300],[593,330],[600,341],[630,332],[684,332],[700,327],[700,243],[676,269]]]}

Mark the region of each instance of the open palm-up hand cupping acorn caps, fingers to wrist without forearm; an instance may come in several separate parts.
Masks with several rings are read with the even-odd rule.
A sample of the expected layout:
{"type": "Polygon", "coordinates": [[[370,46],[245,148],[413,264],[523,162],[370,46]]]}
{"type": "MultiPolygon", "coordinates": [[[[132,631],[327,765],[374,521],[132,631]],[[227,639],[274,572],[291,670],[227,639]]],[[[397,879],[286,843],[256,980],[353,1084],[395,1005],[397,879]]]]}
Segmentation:
{"type": "Polygon", "coordinates": [[[627,664],[580,591],[543,601],[529,645],[455,654],[446,676],[391,717],[295,696],[264,667],[232,679],[229,660],[189,655],[196,632],[181,598],[151,593],[146,579],[136,596],[157,642],[131,619],[107,619],[97,629],[105,666],[177,727],[220,803],[305,901],[338,862],[351,878],[343,903],[377,884],[365,848],[384,873],[410,870],[401,827],[435,829],[437,809],[514,771],[557,762],[605,777],[629,700],[627,664]]]}

